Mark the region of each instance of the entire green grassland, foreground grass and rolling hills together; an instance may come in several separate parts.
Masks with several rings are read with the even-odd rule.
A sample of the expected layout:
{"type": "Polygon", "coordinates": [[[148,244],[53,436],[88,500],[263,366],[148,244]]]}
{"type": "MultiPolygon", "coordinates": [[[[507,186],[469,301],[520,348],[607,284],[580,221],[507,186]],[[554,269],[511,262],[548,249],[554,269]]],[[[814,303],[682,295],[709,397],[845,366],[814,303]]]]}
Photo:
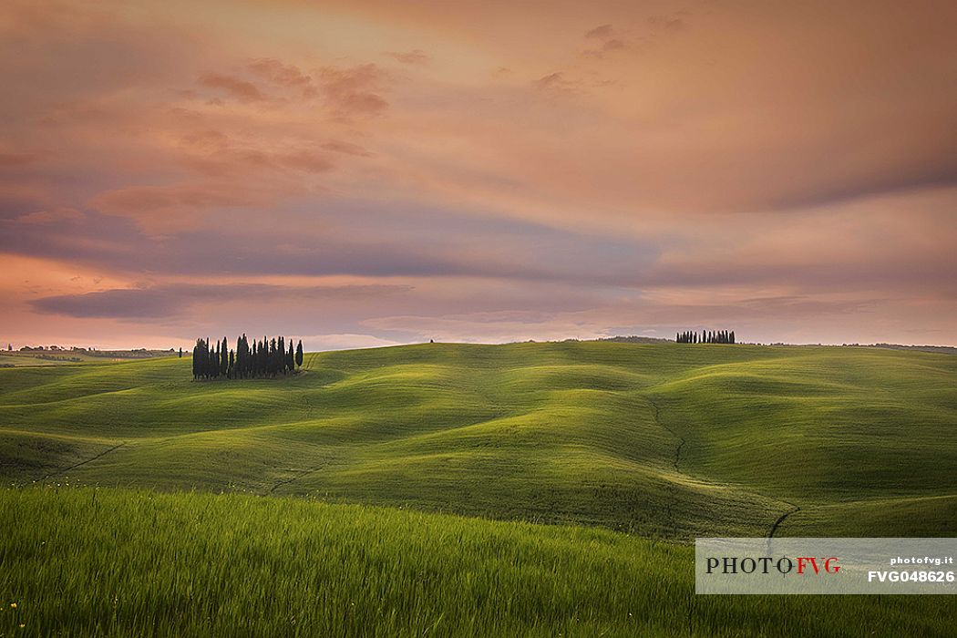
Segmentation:
{"type": "MultiPolygon", "coordinates": [[[[957,622],[940,597],[695,597],[686,545],[957,536],[957,357],[435,343],[303,368],[241,382],[194,382],[176,358],[0,369],[0,592],[34,610],[25,626],[836,636],[957,622]],[[109,591],[129,598],[111,608],[109,591]]],[[[18,629],[11,617],[0,627],[18,629]]]]}

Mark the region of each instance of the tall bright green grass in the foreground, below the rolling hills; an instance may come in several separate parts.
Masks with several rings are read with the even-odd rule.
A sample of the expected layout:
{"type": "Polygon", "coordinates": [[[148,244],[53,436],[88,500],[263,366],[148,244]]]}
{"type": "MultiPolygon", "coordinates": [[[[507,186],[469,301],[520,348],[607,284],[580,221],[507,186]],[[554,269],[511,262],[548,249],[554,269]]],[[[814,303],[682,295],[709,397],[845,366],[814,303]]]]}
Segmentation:
{"type": "Polygon", "coordinates": [[[606,530],[302,498],[3,490],[0,635],[949,636],[957,622],[945,596],[696,596],[693,559],[606,530]]]}

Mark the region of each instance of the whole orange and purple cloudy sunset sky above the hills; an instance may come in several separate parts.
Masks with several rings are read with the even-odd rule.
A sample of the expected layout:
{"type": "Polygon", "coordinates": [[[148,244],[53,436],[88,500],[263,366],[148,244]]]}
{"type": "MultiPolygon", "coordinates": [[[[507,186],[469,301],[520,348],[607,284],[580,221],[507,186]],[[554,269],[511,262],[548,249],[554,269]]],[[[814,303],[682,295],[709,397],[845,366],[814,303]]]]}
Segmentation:
{"type": "Polygon", "coordinates": [[[0,341],[957,344],[957,4],[0,4],[0,341]]]}

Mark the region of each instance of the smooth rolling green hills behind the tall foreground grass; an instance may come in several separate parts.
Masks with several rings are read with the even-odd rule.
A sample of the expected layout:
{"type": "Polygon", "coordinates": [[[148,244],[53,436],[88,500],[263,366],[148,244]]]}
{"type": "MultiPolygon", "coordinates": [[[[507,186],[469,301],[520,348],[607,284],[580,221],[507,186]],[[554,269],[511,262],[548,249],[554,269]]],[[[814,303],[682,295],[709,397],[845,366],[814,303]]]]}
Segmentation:
{"type": "Polygon", "coordinates": [[[212,382],[176,358],[0,369],[0,475],[670,539],[763,536],[782,517],[776,534],[953,534],[957,357],[435,343],[303,367],[212,382]]]}

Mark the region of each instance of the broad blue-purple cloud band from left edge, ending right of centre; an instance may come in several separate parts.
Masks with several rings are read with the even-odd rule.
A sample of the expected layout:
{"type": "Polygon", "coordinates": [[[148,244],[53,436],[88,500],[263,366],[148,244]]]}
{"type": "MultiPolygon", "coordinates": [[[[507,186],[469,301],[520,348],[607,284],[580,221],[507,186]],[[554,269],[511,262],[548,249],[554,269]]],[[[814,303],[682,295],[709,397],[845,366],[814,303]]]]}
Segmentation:
{"type": "Polygon", "coordinates": [[[238,211],[224,213],[214,241],[202,230],[157,239],[91,213],[81,231],[17,225],[15,237],[0,232],[0,252],[158,276],[474,276],[601,284],[633,277],[655,254],[645,244],[442,211],[426,214],[393,205],[385,216],[374,208],[327,209],[322,217],[310,212],[312,231],[296,231],[303,217],[288,212],[268,218],[253,211],[242,217],[238,211]],[[376,232],[369,234],[372,228],[376,232]]]}

